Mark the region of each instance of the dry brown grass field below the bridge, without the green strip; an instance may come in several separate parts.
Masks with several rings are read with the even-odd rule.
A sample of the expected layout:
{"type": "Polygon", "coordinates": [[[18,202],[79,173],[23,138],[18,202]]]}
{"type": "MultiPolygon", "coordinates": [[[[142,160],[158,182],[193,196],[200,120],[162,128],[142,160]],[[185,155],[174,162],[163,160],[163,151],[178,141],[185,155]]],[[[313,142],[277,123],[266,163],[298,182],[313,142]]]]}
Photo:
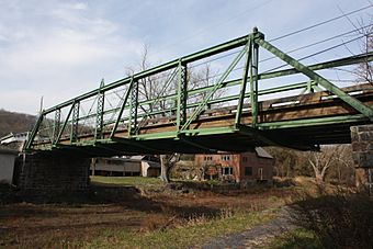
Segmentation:
{"type": "Polygon", "coordinates": [[[290,192],[281,189],[225,194],[147,191],[146,196],[136,192],[129,199],[126,194],[109,196],[105,190],[104,194],[93,196],[99,200],[79,203],[9,203],[0,205],[0,247],[84,247],[98,237],[112,241],[120,234],[151,235],[203,226],[210,220],[282,206],[290,192]]]}

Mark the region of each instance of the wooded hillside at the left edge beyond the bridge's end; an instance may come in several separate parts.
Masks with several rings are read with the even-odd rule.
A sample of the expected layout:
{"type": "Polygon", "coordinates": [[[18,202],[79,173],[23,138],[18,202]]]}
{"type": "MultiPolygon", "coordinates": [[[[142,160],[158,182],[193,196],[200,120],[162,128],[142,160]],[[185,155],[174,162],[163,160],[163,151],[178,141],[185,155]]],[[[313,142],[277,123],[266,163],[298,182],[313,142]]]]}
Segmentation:
{"type": "Polygon", "coordinates": [[[34,115],[0,110],[0,137],[9,133],[31,131],[35,124],[34,115]]]}

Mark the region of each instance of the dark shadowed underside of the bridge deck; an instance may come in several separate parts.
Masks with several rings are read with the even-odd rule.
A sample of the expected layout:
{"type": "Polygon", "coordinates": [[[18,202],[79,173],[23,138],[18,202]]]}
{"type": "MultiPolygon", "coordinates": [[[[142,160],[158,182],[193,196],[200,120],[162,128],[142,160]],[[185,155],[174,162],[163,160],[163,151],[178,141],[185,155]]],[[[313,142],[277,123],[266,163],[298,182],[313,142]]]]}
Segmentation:
{"type": "MultiPolygon", "coordinates": [[[[354,125],[369,124],[359,122],[354,125]]],[[[58,145],[41,154],[80,154],[87,157],[144,154],[204,154],[222,151],[248,151],[256,146],[283,146],[301,150],[317,149],[315,145],[350,144],[350,125],[319,125],[312,128],[284,128],[251,134],[247,128],[231,127],[219,135],[183,136],[150,140],[116,138],[112,142],[97,142],[94,145],[58,145]],[[325,135],[325,134],[328,135],[325,135]]]]}

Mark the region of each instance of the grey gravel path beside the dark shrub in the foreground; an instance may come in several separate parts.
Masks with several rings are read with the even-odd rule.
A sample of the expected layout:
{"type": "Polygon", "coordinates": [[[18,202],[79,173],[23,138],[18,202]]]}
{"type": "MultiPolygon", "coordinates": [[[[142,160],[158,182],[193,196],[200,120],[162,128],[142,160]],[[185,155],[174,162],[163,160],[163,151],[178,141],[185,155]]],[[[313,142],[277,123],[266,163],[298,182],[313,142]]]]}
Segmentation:
{"type": "Polygon", "coordinates": [[[252,227],[249,230],[231,234],[225,237],[214,239],[203,249],[226,249],[226,248],[257,248],[263,245],[269,238],[275,237],[286,230],[290,230],[293,225],[290,224],[287,210],[282,210],[279,216],[269,223],[252,227]]]}

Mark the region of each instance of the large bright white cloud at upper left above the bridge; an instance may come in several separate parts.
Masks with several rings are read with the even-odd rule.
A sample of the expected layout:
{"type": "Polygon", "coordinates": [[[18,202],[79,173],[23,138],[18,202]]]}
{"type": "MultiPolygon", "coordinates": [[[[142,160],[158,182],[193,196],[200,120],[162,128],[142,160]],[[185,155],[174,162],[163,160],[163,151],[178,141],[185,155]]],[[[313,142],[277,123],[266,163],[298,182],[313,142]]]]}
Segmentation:
{"type": "Polygon", "coordinates": [[[86,10],[87,4],[54,4],[31,23],[25,13],[0,25],[0,87],[5,89],[0,107],[34,113],[41,95],[52,105],[81,94],[140,49],[116,24],[86,10]]]}

